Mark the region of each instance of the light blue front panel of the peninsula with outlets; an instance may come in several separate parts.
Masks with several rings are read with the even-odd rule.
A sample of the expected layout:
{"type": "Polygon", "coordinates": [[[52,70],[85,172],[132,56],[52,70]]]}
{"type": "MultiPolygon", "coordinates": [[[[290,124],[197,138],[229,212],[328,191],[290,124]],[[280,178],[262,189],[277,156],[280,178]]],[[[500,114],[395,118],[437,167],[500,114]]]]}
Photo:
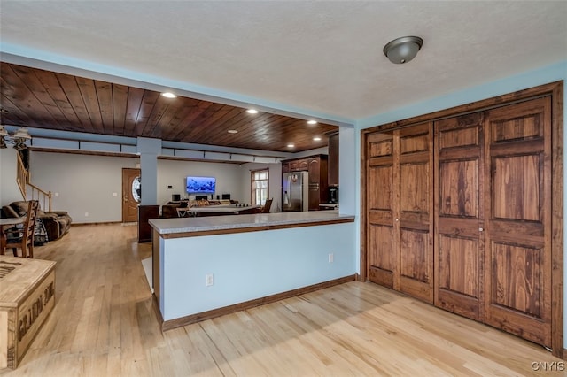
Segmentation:
{"type": "Polygon", "coordinates": [[[351,222],[160,239],[163,318],[180,318],[353,275],[358,269],[355,232],[351,222]],[[334,256],[332,263],[329,253],[334,256]],[[206,287],[209,273],[214,275],[214,285],[206,287]]]}

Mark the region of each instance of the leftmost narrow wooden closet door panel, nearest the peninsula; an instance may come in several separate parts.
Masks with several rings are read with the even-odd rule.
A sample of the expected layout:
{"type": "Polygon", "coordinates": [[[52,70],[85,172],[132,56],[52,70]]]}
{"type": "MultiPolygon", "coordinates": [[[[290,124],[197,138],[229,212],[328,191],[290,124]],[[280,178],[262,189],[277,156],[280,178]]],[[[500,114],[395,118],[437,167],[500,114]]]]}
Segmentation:
{"type": "MultiPolygon", "coordinates": [[[[394,235],[393,131],[368,136],[367,250],[369,280],[393,289],[398,269],[398,237],[394,235]]],[[[396,231],[397,232],[397,231],[396,231]]]]}

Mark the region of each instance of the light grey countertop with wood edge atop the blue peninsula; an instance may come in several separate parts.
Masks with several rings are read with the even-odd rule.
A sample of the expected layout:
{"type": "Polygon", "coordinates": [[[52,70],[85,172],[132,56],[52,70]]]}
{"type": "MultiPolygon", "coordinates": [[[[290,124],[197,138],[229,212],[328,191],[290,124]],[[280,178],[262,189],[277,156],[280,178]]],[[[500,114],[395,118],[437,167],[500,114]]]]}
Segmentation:
{"type": "Polygon", "coordinates": [[[163,238],[177,238],[198,235],[256,232],[289,227],[310,227],[353,221],[353,215],[339,214],[338,211],[314,211],[258,213],[201,218],[151,219],[150,225],[163,238]]]}

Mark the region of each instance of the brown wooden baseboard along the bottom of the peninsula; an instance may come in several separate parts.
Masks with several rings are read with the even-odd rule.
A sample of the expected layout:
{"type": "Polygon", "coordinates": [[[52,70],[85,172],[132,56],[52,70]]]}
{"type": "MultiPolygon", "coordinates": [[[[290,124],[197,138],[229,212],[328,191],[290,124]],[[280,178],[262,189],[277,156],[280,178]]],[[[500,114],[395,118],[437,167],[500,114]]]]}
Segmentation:
{"type": "Polygon", "coordinates": [[[153,304],[156,307],[156,313],[158,314],[158,319],[161,322],[161,331],[171,330],[176,327],[183,327],[190,325],[192,323],[200,322],[206,319],[214,319],[215,317],[220,317],[225,314],[230,314],[233,312],[240,312],[246,309],[252,309],[256,306],[264,305],[264,304],[271,304],[279,300],[283,300],[285,298],[290,298],[293,296],[304,295],[309,292],[314,292],[315,290],[330,288],[339,284],[344,284],[348,281],[356,281],[357,274],[354,273],[353,275],[348,275],[342,278],[334,279],[332,281],[323,281],[317,284],[309,285],[307,287],[302,287],[299,289],[291,289],[285,292],[276,293],[276,295],[264,296],[260,298],[256,298],[253,300],[245,301],[244,303],[223,306],[218,309],[213,309],[206,312],[200,312],[197,314],[191,314],[185,317],[177,318],[177,319],[170,319],[170,320],[163,320],[161,316],[161,312],[159,312],[159,303],[157,302],[157,298],[154,295],[153,304]]]}

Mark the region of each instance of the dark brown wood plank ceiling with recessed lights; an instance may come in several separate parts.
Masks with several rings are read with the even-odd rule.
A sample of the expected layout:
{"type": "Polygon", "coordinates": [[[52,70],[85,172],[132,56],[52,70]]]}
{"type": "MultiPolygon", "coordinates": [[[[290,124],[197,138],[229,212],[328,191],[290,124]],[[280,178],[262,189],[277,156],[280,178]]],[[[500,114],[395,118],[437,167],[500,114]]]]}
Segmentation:
{"type": "Polygon", "coordinates": [[[338,127],[159,92],[0,63],[2,124],[295,152],[328,144],[338,127]],[[237,134],[229,134],[237,130],[237,134]],[[315,142],[315,137],[321,141],[315,142]],[[289,148],[288,144],[294,144],[289,148]]]}

